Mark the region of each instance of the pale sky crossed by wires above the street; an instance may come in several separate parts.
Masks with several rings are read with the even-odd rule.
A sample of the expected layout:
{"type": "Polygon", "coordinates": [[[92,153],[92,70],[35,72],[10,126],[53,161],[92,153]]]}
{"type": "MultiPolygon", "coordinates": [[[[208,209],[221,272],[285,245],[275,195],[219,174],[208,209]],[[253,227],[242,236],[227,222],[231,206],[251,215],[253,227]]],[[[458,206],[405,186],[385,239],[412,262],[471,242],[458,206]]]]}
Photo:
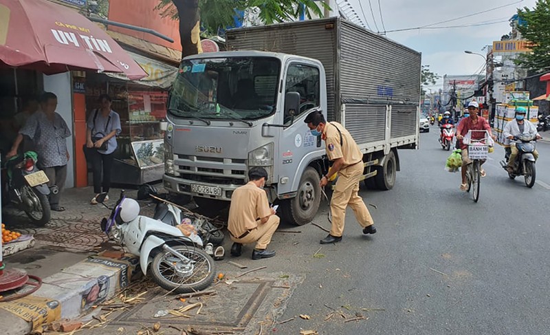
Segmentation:
{"type": "MultiPolygon", "coordinates": [[[[383,31],[378,0],[337,0],[342,5],[349,2],[358,16],[366,20],[371,30],[383,31]],[[371,6],[373,14],[371,13],[371,6]],[[360,6],[362,5],[362,8],[360,6]],[[363,12],[364,16],[363,16],[363,12]],[[377,28],[374,24],[376,21],[377,28]]],[[[445,74],[475,74],[485,64],[481,56],[465,54],[465,50],[485,55],[487,45],[500,41],[500,37],[511,31],[509,20],[517,8],[534,8],[536,0],[380,0],[386,36],[422,53],[422,64],[430,65],[430,70],[441,78],[431,89],[442,88],[445,74]],[[506,6],[509,5],[509,6],[506,6]],[[497,8],[505,6],[503,8],[497,8]],[[488,10],[488,11],[487,11],[488,10]],[[487,12],[485,12],[487,11],[487,12]],[[474,15],[477,12],[483,14],[474,15]],[[455,21],[431,25],[441,21],[455,21]],[[505,21],[489,25],[464,28],[408,30],[389,32],[405,28],[447,27],[505,21]]],[[[343,5],[345,6],[345,5],[343,5]]],[[[485,72],[481,72],[485,74],[485,72]]]]}

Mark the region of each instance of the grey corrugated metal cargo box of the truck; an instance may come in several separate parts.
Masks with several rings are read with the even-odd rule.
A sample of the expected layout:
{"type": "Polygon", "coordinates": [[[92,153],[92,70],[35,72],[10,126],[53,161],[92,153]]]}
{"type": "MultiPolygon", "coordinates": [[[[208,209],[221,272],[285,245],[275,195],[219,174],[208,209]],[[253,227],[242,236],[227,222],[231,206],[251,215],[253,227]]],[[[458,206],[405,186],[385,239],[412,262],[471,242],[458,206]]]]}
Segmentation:
{"type": "MultiPolygon", "coordinates": [[[[360,147],[418,142],[421,54],[338,17],[229,30],[228,50],[316,58],[327,74],[329,121],[360,147]]],[[[415,147],[412,145],[411,147],[415,147]]]]}

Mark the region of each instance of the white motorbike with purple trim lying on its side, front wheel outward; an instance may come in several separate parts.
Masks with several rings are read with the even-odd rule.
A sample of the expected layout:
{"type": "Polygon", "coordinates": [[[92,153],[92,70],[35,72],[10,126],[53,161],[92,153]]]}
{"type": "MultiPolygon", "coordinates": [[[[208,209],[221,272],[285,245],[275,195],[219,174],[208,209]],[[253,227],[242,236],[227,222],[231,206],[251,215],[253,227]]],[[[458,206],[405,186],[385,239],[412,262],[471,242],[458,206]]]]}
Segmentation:
{"type": "MultiPolygon", "coordinates": [[[[107,193],[96,197],[104,204],[107,193]]],[[[111,209],[111,208],[109,208],[111,209]]],[[[151,277],[164,290],[197,292],[214,281],[214,260],[206,254],[203,241],[190,225],[175,227],[140,214],[140,205],[120,192],[120,198],[101,230],[132,255],[140,257],[143,274],[151,265],[151,277]]]]}

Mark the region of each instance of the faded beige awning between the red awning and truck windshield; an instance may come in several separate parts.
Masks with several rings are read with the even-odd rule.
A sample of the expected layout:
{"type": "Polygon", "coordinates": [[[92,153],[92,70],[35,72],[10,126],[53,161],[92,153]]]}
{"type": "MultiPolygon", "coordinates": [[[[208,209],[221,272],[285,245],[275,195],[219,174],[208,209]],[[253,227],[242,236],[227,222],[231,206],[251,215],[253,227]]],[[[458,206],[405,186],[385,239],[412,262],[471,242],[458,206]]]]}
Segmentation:
{"type": "MultiPolygon", "coordinates": [[[[177,67],[155,61],[151,58],[128,52],[130,56],[147,72],[148,76],[140,80],[135,80],[135,83],[142,85],[160,87],[167,89],[173,83],[177,75],[177,67]]],[[[129,80],[124,74],[107,73],[107,76],[122,80],[129,80]]]]}

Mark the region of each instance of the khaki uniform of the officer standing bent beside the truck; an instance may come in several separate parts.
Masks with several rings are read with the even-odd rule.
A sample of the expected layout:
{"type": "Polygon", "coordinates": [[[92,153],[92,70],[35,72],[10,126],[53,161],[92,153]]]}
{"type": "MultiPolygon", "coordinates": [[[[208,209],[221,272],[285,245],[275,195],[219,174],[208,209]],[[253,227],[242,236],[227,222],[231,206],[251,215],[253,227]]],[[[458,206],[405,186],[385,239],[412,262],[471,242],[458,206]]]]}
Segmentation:
{"type": "Polygon", "coordinates": [[[362,197],[358,195],[359,182],[364,172],[363,154],[349,131],[338,122],[327,123],[322,138],[327,145],[329,160],[344,158],[344,166],[338,171],[338,181],[331,199],[332,227],[330,234],[341,237],[344,233],[347,206],[353,209],[355,219],[363,228],[374,223],[362,197]],[[342,144],[340,144],[340,133],[342,133],[342,144]]]}

